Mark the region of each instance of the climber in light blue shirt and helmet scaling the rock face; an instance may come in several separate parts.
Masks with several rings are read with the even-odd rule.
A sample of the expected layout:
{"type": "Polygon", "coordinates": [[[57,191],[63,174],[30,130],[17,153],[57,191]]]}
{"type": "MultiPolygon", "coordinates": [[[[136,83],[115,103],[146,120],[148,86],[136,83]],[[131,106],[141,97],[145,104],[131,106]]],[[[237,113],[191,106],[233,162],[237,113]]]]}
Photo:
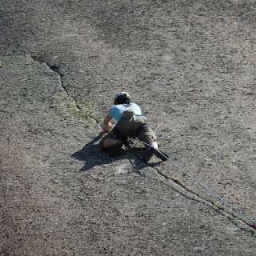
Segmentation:
{"type": "Polygon", "coordinates": [[[102,129],[108,134],[102,138],[100,145],[102,150],[109,151],[110,156],[118,154],[127,138],[138,138],[150,145],[142,158],[144,162],[148,162],[152,156],[152,147],[158,149],[157,138],[146,123],[140,106],[132,102],[130,94],[126,92],[120,92],[114,97],[114,106],[108,110],[102,129]],[[117,122],[115,126],[111,123],[112,118],[117,122]]]}

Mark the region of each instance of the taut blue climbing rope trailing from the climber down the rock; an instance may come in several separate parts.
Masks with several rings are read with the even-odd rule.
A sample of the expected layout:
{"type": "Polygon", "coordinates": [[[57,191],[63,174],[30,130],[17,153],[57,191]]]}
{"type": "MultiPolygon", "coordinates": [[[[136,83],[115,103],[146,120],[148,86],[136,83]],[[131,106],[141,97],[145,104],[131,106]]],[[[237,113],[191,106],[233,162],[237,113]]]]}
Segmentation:
{"type": "MultiPolygon", "coordinates": [[[[146,146],[150,146],[150,144],[143,142],[142,140],[139,140],[137,138],[137,140],[139,142],[142,142],[142,144],[146,145],[146,146]]],[[[243,214],[240,210],[238,210],[237,208],[235,208],[234,206],[232,206],[229,202],[226,202],[226,200],[224,200],[223,198],[221,198],[220,196],[218,196],[218,194],[215,194],[214,191],[208,189],[206,186],[204,186],[201,182],[199,182],[196,178],[194,178],[192,175],[190,175],[189,173],[186,172],[186,170],[183,170],[182,167],[178,166],[175,162],[173,162],[172,160],[170,160],[170,158],[168,158],[166,156],[166,154],[163,154],[162,151],[154,148],[154,150],[158,151],[159,154],[161,154],[164,158],[166,158],[166,160],[168,160],[169,162],[171,162],[174,166],[176,166],[179,170],[181,170],[184,174],[186,174],[188,177],[192,178],[194,180],[194,182],[197,182],[200,186],[202,186],[204,189],[206,189],[208,192],[210,192],[210,194],[213,194],[216,198],[218,198],[219,200],[221,200],[222,202],[224,202],[227,206],[230,206],[233,210],[237,211],[238,214],[241,214],[244,218],[248,219],[250,222],[253,223],[252,227],[254,227],[254,229],[256,229],[256,221],[254,221],[254,219],[246,216],[246,214],[243,214]]]]}

